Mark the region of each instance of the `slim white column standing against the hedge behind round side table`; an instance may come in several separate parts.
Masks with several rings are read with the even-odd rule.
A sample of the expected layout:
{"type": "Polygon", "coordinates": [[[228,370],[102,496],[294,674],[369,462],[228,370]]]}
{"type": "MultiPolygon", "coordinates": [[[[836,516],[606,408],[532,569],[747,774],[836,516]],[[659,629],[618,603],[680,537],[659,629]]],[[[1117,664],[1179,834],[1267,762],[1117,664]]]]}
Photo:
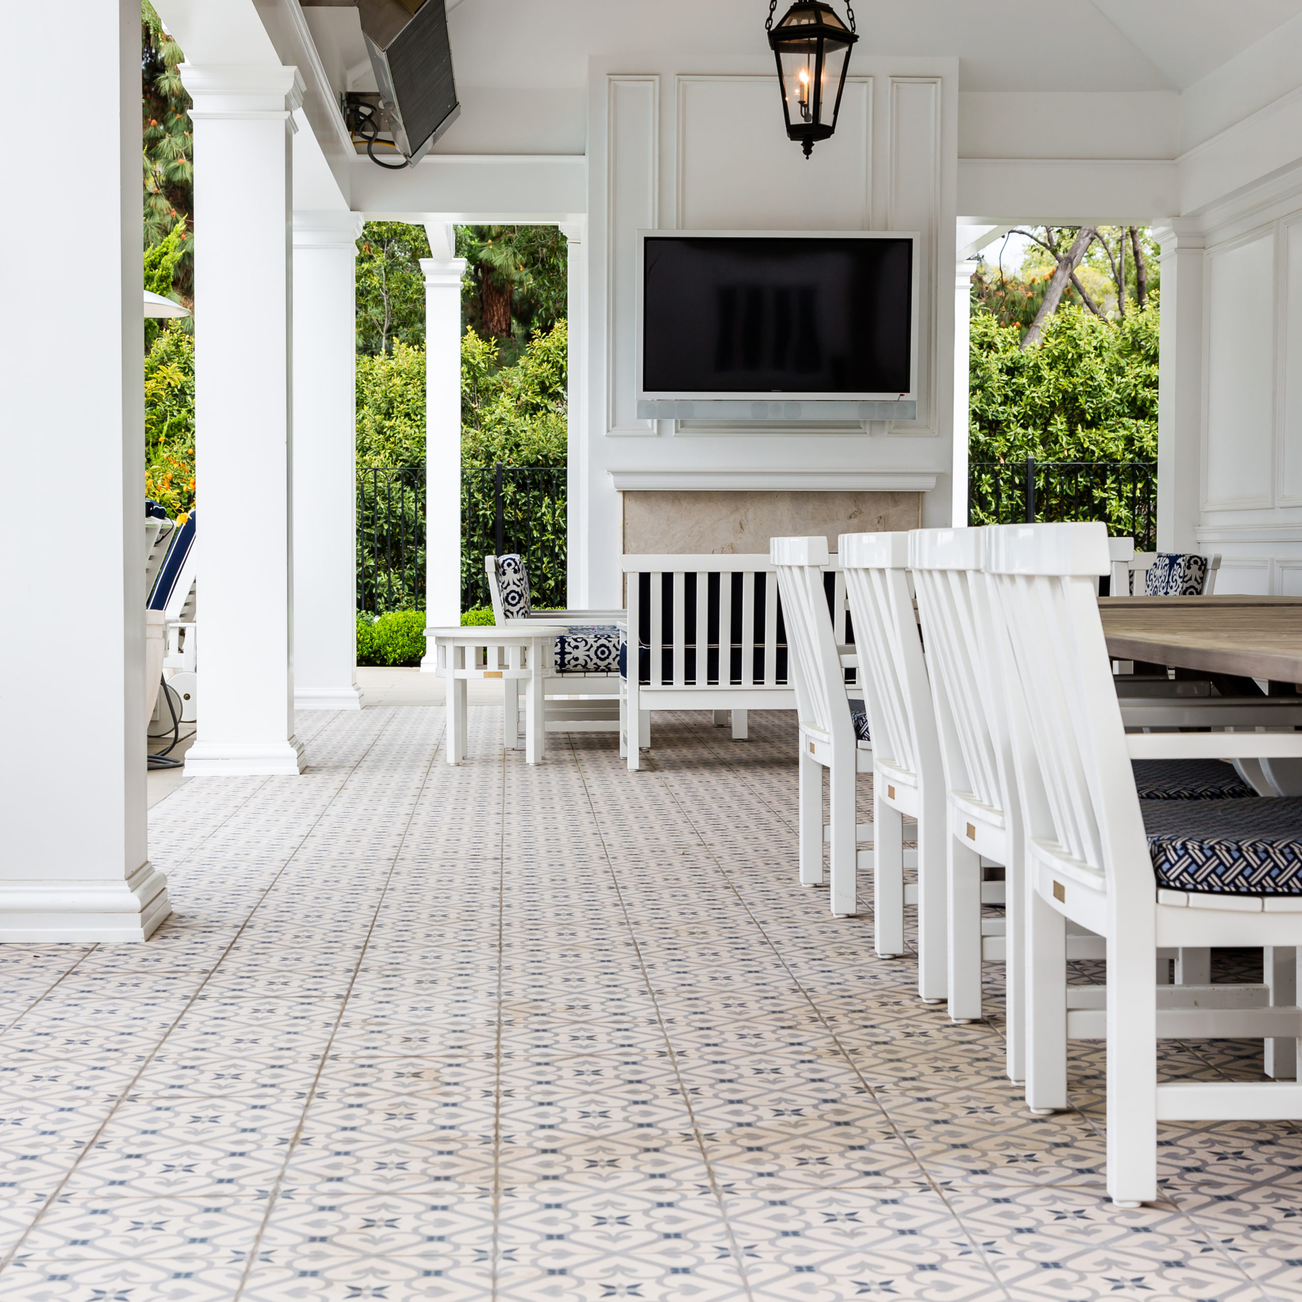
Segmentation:
{"type": "MultiPolygon", "coordinates": [[[[461,622],[461,277],[450,225],[428,223],[424,272],[426,611],[434,626],[461,622]]],[[[421,664],[434,671],[434,647],[421,664]]]]}

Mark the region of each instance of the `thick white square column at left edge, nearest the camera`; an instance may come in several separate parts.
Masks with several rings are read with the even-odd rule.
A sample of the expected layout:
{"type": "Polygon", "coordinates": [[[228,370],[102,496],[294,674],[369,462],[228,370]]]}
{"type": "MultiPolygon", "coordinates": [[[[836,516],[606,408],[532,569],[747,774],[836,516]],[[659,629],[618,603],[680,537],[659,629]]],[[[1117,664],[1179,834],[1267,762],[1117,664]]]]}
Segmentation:
{"type": "MultiPolygon", "coordinates": [[[[145,844],[141,13],[72,0],[61,18],[85,105],[72,370],[30,207],[0,204],[0,941],[145,940],[171,905],[145,844]]],[[[18,5],[5,30],[36,49],[48,13],[18,5]]],[[[35,103],[46,76],[20,60],[9,87],[35,103]]]]}

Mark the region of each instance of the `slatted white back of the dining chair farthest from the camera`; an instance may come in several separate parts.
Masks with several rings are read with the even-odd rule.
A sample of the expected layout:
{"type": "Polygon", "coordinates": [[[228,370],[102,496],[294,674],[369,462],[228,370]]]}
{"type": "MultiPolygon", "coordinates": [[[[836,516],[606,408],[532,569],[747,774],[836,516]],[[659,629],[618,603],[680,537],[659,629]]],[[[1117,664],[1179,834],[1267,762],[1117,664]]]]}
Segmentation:
{"type": "Polygon", "coordinates": [[[827,539],[772,538],[768,548],[781,594],[801,724],[825,733],[833,745],[853,745],[849,698],[823,581],[829,562],[827,539]]]}

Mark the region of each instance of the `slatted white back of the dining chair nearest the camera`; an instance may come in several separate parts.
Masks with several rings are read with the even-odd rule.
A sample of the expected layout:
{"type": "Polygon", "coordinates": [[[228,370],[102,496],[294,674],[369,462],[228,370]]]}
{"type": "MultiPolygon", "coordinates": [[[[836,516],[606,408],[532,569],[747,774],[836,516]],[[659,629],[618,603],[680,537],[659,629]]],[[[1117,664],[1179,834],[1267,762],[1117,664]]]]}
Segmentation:
{"type": "MultiPolygon", "coordinates": [[[[1025,706],[1013,750],[1027,838],[1056,845],[1113,889],[1118,858],[1147,858],[1147,842],[1095,595],[1109,568],[1107,527],[993,525],[986,535],[1006,634],[997,650],[1008,690],[1025,706]]],[[[1151,900],[1151,871],[1142,876],[1151,900]]]]}

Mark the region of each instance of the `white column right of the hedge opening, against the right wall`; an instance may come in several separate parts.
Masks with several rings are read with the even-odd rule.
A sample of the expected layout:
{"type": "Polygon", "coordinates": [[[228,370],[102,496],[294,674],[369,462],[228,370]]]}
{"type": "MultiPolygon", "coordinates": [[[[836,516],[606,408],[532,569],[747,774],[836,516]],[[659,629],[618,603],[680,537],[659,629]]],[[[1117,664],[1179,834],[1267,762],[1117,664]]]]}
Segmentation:
{"type": "Polygon", "coordinates": [[[1161,242],[1157,549],[1189,552],[1202,514],[1204,241],[1184,223],[1154,234],[1161,242]]]}

